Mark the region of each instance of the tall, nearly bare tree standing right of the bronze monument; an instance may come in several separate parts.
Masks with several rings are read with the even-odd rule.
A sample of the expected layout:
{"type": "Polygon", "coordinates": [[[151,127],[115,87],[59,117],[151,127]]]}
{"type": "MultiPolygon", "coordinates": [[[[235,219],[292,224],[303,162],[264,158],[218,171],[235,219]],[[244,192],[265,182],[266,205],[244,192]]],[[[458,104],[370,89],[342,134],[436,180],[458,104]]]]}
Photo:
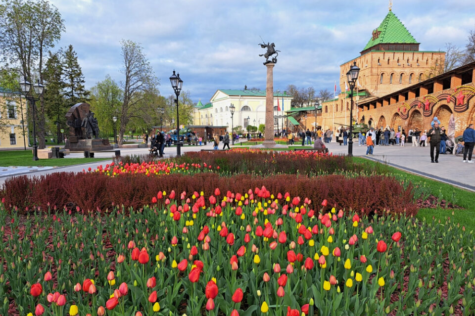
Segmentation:
{"type": "Polygon", "coordinates": [[[158,86],[158,80],[143,53],[142,46],[130,40],[123,40],[121,45],[124,61],[122,73],[125,78],[121,82],[123,98],[119,113],[119,144],[123,142],[127,124],[133,117],[143,112],[143,106],[147,106],[142,102],[146,97],[145,92],[155,90],[158,86]]]}

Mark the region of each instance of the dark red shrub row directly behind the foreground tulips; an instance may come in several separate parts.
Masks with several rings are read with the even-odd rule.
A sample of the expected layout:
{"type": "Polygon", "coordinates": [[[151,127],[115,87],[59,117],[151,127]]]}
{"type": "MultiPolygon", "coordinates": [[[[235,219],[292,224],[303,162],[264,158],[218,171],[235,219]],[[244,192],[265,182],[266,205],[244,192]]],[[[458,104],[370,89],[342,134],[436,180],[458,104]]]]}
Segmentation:
{"type": "Polygon", "coordinates": [[[150,204],[151,198],[160,191],[177,194],[186,191],[203,191],[205,196],[220,188],[225,194],[246,193],[249,189],[266,186],[273,194],[308,197],[312,207],[320,209],[320,203],[328,200],[328,205],[337,209],[352,209],[360,214],[372,215],[375,211],[389,210],[392,214],[415,215],[412,185],[404,188],[394,178],[369,176],[346,178],[342,175],[304,177],[297,175],[277,175],[259,177],[237,175],[220,177],[213,173],[185,176],[179,174],[161,177],[144,175],[122,175],[111,178],[97,173],[53,173],[41,177],[19,176],[9,178],[2,188],[5,205],[18,212],[28,212],[33,207],[47,210],[48,205],[68,209],[76,206],[83,210],[105,210],[112,205],[126,208],[140,208],[150,204]]]}

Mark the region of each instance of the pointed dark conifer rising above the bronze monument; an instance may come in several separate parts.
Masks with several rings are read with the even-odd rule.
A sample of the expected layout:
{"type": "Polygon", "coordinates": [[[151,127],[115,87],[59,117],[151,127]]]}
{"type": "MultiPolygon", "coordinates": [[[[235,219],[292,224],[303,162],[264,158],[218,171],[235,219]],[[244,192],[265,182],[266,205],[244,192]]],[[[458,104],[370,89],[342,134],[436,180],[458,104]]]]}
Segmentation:
{"type": "Polygon", "coordinates": [[[73,49],[73,45],[69,45],[64,52],[63,76],[65,83],[64,97],[69,107],[78,102],[86,102],[89,100],[88,96],[90,91],[84,87],[84,75],[78,63],[78,56],[73,49]]]}

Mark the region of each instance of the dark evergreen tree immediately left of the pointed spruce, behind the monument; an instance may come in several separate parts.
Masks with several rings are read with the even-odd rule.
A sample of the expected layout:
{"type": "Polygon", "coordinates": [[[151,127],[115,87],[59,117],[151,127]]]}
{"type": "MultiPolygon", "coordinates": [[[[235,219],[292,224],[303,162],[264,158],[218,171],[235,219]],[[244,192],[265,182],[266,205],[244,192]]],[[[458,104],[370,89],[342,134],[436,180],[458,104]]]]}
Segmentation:
{"type": "Polygon", "coordinates": [[[46,115],[50,122],[56,125],[56,135],[59,143],[60,128],[66,127],[65,115],[69,107],[63,98],[64,82],[61,51],[57,53],[49,52],[49,57],[42,74],[45,85],[48,87],[44,92],[46,115]]]}

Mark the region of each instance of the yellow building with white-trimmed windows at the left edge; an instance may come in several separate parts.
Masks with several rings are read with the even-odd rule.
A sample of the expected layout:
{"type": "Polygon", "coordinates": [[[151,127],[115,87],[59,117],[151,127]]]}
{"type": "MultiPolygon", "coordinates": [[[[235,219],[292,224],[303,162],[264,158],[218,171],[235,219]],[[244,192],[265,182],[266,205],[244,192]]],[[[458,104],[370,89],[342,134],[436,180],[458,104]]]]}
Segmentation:
{"type": "Polygon", "coordinates": [[[26,117],[26,100],[0,88],[0,148],[28,146],[26,117]]]}

